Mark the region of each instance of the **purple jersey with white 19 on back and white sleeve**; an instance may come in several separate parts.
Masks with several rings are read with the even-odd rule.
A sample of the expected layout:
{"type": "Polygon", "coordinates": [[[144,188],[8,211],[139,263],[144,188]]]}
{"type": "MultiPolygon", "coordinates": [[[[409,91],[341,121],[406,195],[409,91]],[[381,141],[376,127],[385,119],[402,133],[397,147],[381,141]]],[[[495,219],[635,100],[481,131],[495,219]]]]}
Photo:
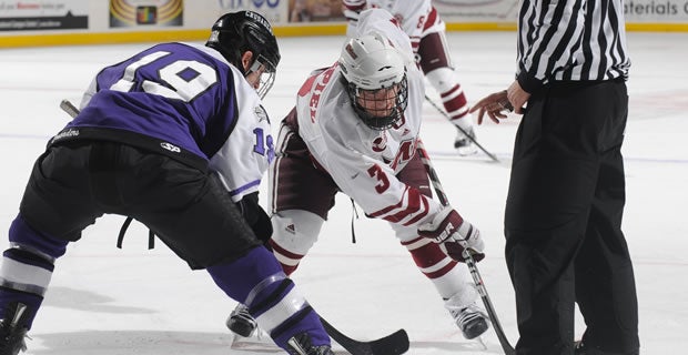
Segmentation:
{"type": "Polygon", "coordinates": [[[99,72],[53,143],[111,140],[203,161],[239,201],[274,156],[270,133],[255,89],[217,51],[162,43],[99,72]]]}

